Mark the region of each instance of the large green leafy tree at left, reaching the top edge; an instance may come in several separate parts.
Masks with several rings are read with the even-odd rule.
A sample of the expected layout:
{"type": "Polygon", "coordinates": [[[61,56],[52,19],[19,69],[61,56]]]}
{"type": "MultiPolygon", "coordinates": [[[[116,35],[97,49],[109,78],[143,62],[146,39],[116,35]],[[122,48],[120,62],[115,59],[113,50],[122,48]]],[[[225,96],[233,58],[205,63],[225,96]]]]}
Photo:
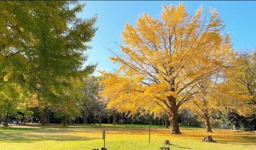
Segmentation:
{"type": "Polygon", "coordinates": [[[83,67],[96,17],[77,17],[85,5],[71,1],[12,1],[0,6],[0,84],[23,84],[46,110],[65,104],[67,87],[94,71],[83,67]],[[12,62],[11,64],[9,62],[12,62]],[[13,79],[13,80],[11,80],[13,79]]]}

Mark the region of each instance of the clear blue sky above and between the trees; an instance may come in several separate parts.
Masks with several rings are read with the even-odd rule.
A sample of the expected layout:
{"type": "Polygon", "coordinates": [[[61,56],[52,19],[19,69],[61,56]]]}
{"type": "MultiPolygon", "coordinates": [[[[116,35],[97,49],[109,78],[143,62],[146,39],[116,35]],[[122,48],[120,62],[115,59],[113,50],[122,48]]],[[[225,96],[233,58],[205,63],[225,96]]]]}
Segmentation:
{"type": "MultiPolygon", "coordinates": [[[[183,1],[84,1],[86,7],[79,17],[90,18],[97,14],[98,20],[95,26],[98,31],[89,43],[92,46],[88,63],[98,63],[97,70],[112,71],[117,68],[109,57],[112,54],[105,47],[111,48],[118,53],[120,48],[116,43],[121,43],[121,31],[124,24],[134,24],[135,20],[142,13],[150,14],[158,18],[162,6],[179,4],[183,1]]],[[[233,47],[236,50],[251,49],[256,46],[256,2],[254,1],[184,1],[189,13],[195,13],[201,5],[204,13],[209,13],[209,8],[216,8],[221,19],[226,25],[224,32],[230,34],[233,47]]],[[[98,72],[94,73],[99,75],[98,72]]]]}

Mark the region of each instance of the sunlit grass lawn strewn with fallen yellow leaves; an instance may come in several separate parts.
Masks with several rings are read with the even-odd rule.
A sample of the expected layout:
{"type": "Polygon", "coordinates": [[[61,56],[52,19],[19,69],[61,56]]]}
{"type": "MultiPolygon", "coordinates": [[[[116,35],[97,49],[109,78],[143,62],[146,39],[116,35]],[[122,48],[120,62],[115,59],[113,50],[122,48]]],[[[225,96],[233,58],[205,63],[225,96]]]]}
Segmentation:
{"type": "Polygon", "coordinates": [[[169,129],[153,126],[151,143],[148,143],[148,126],[103,124],[102,127],[74,124],[61,127],[0,127],[0,149],[92,149],[103,146],[102,130],[106,130],[106,148],[159,149],[165,139],[170,149],[256,149],[256,135],[252,132],[214,129],[211,133],[216,143],[202,142],[203,128],[181,127],[182,135],[170,135],[169,129]]]}

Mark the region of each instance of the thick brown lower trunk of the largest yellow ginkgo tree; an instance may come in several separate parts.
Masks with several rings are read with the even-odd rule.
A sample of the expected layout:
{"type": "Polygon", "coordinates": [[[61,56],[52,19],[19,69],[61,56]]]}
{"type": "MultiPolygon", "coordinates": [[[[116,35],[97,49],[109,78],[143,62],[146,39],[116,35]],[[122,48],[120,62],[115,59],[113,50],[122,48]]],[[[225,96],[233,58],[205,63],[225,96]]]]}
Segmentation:
{"type": "Polygon", "coordinates": [[[178,108],[172,109],[172,115],[168,114],[170,117],[170,123],[172,126],[170,127],[171,134],[181,134],[179,128],[179,121],[178,121],[178,108]]]}

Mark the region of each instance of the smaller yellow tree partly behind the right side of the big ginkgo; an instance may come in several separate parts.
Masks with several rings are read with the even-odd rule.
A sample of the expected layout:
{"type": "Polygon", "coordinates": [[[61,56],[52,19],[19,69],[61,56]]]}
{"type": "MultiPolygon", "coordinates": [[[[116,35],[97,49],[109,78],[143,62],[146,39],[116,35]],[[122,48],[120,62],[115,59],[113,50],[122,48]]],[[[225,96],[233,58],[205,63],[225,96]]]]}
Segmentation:
{"type": "Polygon", "coordinates": [[[247,104],[250,96],[238,91],[236,87],[230,87],[226,79],[218,73],[215,81],[208,81],[198,84],[199,88],[204,89],[197,94],[185,107],[197,114],[205,122],[206,132],[212,132],[210,117],[217,111],[235,110],[240,115],[247,115],[252,112],[247,104]]]}

